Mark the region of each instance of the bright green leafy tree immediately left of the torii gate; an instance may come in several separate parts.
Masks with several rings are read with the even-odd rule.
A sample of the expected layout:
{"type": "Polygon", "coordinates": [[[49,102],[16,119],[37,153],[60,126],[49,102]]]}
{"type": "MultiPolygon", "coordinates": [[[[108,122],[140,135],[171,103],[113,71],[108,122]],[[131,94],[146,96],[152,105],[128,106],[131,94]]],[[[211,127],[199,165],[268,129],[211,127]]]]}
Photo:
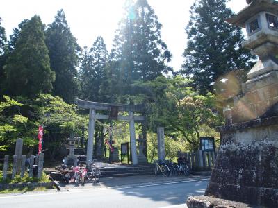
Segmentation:
{"type": "Polygon", "coordinates": [[[81,135],[86,119],[76,113],[76,105],[68,104],[58,96],[40,94],[32,102],[35,117],[44,126],[44,148],[51,159],[57,154],[57,148],[66,143],[71,132],[81,135]]]}

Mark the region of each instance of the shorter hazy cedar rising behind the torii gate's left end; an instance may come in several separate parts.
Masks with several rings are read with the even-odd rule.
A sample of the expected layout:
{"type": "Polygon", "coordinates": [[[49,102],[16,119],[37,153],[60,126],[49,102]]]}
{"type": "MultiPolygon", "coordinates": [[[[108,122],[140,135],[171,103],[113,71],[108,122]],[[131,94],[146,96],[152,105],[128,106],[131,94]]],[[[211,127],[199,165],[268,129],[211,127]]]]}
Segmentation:
{"type": "Polygon", "coordinates": [[[104,82],[105,69],[108,64],[108,51],[102,37],[97,37],[90,51],[85,47],[81,58],[81,98],[88,101],[102,102],[99,92],[104,82]]]}

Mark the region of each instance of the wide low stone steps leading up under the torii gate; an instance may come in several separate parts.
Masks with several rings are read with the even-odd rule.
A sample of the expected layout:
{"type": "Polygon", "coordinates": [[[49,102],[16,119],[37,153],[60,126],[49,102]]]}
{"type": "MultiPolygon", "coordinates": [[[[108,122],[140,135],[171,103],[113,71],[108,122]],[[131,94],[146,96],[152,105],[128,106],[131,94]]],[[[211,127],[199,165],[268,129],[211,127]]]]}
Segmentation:
{"type": "Polygon", "coordinates": [[[120,165],[105,166],[100,168],[101,177],[128,177],[133,175],[152,175],[154,174],[154,165],[120,165]]]}

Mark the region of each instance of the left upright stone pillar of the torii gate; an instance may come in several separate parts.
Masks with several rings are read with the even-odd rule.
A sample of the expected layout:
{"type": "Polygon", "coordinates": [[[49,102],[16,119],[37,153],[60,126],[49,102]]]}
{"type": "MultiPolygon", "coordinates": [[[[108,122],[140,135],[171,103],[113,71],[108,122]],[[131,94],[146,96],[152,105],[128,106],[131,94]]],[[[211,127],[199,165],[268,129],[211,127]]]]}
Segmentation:
{"type": "Polygon", "coordinates": [[[87,141],[87,159],[86,164],[92,163],[92,153],[94,149],[94,132],[95,132],[95,109],[90,108],[88,141],[87,141]]]}

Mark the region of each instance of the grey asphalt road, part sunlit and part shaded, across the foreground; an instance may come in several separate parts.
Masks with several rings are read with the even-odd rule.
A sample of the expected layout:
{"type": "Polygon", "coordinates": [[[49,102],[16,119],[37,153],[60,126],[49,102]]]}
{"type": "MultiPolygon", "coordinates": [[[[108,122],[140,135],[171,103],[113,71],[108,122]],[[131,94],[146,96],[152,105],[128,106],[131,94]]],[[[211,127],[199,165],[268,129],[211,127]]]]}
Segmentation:
{"type": "Polygon", "coordinates": [[[188,196],[203,195],[208,180],[135,187],[70,189],[0,196],[1,208],[137,208],[185,207],[188,196]]]}

